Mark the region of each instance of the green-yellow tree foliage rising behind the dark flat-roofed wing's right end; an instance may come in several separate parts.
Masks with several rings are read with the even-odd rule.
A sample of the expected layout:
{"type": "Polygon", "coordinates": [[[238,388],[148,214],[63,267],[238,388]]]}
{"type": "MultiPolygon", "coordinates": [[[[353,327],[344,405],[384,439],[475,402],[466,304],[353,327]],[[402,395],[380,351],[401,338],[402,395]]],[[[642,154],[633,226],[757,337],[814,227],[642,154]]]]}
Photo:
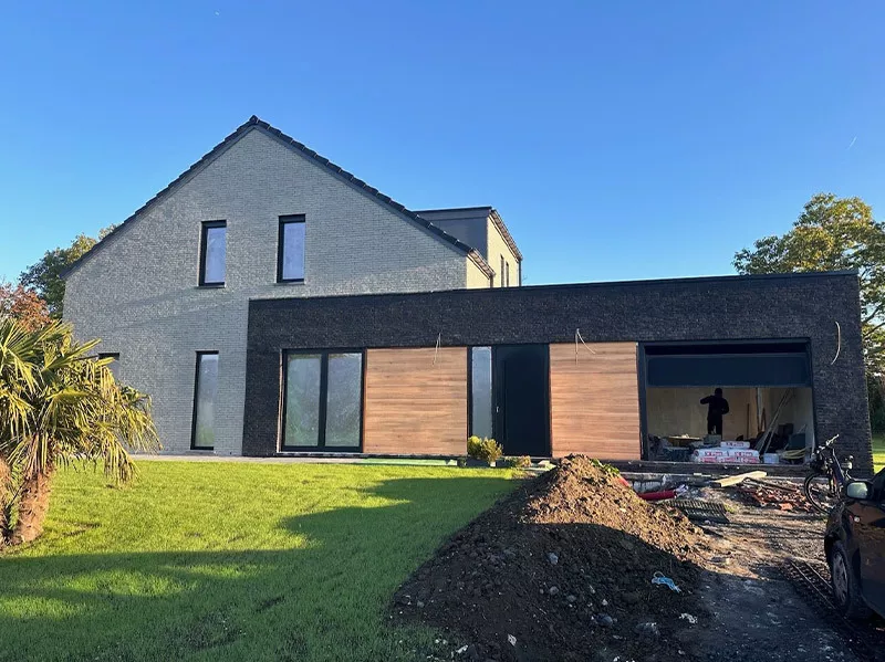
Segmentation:
{"type": "Polygon", "coordinates": [[[885,224],[860,198],[818,193],[792,229],[735,254],[741,274],[856,270],[867,374],[885,374],[885,224]]]}

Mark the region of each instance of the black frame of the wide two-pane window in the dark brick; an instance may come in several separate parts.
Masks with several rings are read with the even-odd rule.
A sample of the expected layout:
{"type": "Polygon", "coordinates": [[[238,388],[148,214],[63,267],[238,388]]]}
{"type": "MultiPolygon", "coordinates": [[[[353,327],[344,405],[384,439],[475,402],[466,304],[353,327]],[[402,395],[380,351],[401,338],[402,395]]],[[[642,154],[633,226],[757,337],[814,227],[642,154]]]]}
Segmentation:
{"type": "Polygon", "coordinates": [[[364,347],[340,347],[335,349],[283,349],[281,362],[280,389],[280,421],[277,448],[281,453],[362,453],[365,434],[366,409],[366,350],[364,347]],[[316,445],[288,445],[285,443],[285,413],[289,400],[289,357],[296,355],[320,356],[320,413],[319,434],[316,445]],[[358,354],[360,355],[360,445],[358,446],[327,446],[325,445],[326,416],[329,407],[329,355],[330,354],[358,354]]]}

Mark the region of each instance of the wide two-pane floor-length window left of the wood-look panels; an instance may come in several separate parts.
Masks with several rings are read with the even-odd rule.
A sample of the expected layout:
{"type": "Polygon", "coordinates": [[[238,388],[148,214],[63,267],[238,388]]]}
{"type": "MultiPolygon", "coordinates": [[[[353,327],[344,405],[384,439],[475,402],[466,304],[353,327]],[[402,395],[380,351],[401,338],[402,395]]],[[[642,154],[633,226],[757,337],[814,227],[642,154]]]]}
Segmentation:
{"type": "Polygon", "coordinates": [[[360,451],[362,351],[290,351],[283,396],[284,451],[360,451]]]}

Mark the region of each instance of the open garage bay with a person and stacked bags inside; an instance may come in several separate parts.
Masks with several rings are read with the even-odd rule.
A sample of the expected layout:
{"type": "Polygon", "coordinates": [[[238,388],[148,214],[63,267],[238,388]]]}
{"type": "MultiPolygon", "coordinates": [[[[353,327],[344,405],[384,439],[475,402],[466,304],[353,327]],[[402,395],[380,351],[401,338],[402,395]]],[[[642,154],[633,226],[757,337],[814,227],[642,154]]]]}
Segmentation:
{"type": "Polygon", "coordinates": [[[648,344],[643,361],[645,459],[801,463],[814,445],[808,343],[648,344]]]}

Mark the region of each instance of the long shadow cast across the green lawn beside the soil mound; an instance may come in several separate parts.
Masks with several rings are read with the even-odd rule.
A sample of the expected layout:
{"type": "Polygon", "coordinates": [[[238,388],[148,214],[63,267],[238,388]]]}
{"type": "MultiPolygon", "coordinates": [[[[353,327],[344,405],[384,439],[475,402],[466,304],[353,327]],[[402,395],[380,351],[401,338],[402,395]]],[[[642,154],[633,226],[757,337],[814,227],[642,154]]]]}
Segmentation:
{"type": "Polygon", "coordinates": [[[389,505],[282,517],[289,549],[0,556],[0,660],[414,659],[427,633],[392,630],[386,606],[481,509],[450,507],[459,481],[508,490],[387,480],[361,492],[389,505]]]}

